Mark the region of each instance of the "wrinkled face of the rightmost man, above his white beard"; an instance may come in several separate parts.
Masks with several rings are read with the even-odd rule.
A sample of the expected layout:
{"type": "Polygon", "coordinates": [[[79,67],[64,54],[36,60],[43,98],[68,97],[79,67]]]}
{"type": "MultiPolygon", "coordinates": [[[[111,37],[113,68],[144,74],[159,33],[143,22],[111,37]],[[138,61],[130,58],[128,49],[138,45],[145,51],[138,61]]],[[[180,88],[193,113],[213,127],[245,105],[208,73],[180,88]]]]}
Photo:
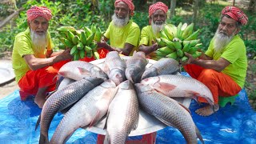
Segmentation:
{"type": "Polygon", "coordinates": [[[232,34],[238,34],[238,31],[239,29],[237,27],[236,21],[232,18],[227,18],[224,16],[221,22],[219,22],[218,32],[220,34],[225,34],[226,36],[230,37],[232,34]]]}

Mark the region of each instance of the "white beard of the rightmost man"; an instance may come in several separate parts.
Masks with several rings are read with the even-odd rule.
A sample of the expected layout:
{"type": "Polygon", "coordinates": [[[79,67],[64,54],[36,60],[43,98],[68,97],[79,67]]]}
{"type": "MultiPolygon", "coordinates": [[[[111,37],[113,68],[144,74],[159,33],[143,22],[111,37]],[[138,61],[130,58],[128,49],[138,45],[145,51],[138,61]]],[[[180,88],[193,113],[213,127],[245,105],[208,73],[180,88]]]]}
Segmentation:
{"type": "Polygon", "coordinates": [[[219,30],[214,34],[214,50],[220,52],[224,49],[224,47],[230,43],[230,41],[234,38],[234,33],[230,36],[226,34],[220,33],[219,30]]]}

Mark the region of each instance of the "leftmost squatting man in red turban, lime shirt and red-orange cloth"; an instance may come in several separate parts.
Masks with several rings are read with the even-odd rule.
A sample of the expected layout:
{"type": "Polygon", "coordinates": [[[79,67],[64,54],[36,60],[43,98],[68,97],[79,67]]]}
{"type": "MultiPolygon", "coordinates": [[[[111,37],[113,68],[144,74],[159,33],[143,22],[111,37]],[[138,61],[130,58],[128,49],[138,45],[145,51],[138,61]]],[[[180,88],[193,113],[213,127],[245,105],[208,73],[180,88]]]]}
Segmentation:
{"type": "Polygon", "coordinates": [[[47,92],[55,90],[58,70],[71,58],[70,49],[53,52],[47,32],[51,11],[45,6],[32,6],[26,11],[29,28],[15,37],[12,64],[22,101],[30,95],[42,108],[47,92]]]}

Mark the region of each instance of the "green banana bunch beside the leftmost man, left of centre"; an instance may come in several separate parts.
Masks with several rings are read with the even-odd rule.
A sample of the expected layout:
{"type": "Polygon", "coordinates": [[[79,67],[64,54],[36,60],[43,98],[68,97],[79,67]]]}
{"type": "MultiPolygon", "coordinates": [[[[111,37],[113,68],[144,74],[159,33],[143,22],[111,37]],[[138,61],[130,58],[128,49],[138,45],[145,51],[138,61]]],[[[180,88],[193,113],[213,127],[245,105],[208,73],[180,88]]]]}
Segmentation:
{"type": "Polygon", "coordinates": [[[74,60],[85,57],[99,59],[96,43],[102,38],[102,30],[99,27],[92,25],[91,28],[85,26],[82,30],[76,30],[73,26],[61,26],[57,30],[58,38],[62,42],[59,48],[69,47],[74,60]]]}

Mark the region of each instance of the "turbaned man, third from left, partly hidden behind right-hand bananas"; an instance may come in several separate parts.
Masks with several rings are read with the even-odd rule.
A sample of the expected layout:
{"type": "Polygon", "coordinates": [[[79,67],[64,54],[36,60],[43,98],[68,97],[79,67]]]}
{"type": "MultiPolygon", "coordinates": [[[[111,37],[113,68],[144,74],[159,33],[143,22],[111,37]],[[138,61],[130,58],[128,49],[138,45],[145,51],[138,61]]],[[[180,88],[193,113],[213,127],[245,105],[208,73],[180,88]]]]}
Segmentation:
{"type": "Polygon", "coordinates": [[[158,50],[158,45],[155,42],[159,38],[159,32],[166,24],[166,12],[168,6],[162,2],[156,2],[149,8],[150,26],[142,28],[141,40],[138,50],[143,51],[147,58],[155,59],[155,50],[158,50]]]}

